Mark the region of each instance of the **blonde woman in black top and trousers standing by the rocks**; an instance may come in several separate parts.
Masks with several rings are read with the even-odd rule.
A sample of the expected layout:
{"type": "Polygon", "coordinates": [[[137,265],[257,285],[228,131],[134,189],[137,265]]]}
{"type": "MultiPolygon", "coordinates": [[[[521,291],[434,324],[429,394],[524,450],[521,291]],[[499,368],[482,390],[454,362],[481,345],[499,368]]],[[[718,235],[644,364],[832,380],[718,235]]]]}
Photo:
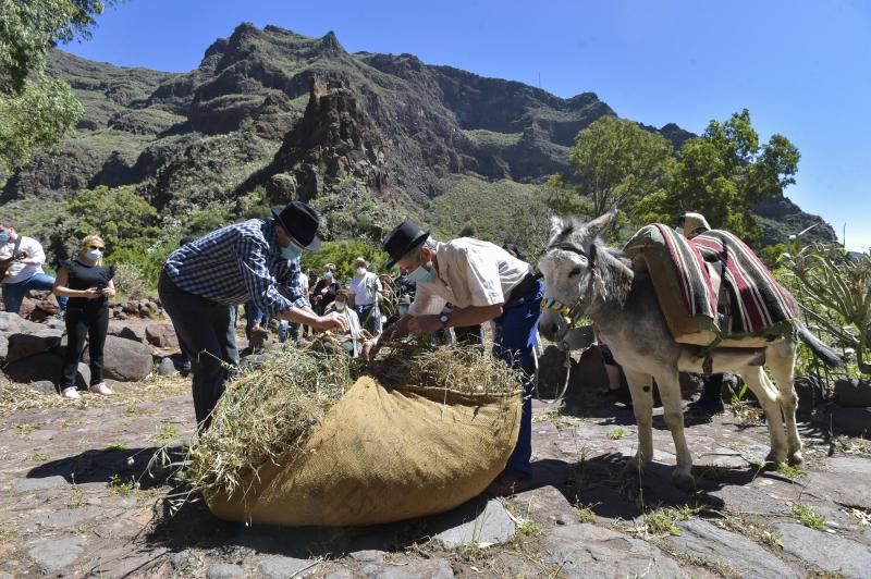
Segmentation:
{"type": "Polygon", "coordinates": [[[112,391],[102,380],[102,350],[109,330],[109,298],[115,295],[112,283],[114,268],[102,266],[106,244],[97,235],[82,239],[78,257],[62,261],[54,279],[54,295],[66,296],[66,357],[61,375],[61,395],[78,398],[75,374],[88,340],[90,355],[90,392],[109,395],[112,391]]]}

